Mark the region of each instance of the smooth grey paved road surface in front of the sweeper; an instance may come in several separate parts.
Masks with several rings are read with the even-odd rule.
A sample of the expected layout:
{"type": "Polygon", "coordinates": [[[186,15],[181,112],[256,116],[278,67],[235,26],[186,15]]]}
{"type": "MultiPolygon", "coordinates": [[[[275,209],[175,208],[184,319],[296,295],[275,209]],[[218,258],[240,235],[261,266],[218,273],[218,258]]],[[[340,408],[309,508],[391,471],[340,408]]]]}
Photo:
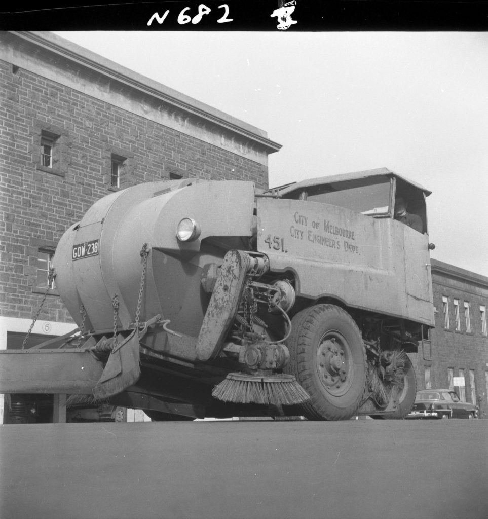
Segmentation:
{"type": "Polygon", "coordinates": [[[486,519],[488,420],[0,428],[2,519],[486,519]]]}

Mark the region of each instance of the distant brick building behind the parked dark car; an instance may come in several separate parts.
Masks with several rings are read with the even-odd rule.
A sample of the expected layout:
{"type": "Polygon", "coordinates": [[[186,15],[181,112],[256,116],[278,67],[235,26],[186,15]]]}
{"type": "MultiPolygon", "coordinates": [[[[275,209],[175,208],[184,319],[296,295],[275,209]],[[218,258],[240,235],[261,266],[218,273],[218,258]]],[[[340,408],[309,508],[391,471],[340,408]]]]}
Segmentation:
{"type": "Polygon", "coordinates": [[[436,327],[426,333],[419,353],[412,355],[417,389],[453,388],[461,400],[488,415],[488,278],[437,260],[431,261],[436,327]]]}

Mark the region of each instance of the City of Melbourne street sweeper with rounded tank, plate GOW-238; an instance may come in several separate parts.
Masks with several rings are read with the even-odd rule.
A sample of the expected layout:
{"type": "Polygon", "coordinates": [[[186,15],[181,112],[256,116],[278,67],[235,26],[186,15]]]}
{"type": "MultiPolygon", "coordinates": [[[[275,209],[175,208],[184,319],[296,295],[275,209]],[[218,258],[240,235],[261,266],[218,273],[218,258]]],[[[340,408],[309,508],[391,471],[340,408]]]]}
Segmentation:
{"type": "Polygon", "coordinates": [[[78,329],[3,351],[0,392],[153,420],[403,418],[408,353],[434,325],[429,194],[385,168],[264,192],[183,179],[110,194],[52,262],[78,329]]]}

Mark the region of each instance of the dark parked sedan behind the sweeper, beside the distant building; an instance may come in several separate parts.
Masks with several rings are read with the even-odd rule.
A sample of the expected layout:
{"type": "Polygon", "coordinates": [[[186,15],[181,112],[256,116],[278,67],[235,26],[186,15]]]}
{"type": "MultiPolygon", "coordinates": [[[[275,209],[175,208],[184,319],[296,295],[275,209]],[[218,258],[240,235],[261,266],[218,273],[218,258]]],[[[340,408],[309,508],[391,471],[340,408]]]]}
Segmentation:
{"type": "Polygon", "coordinates": [[[424,389],[417,391],[415,402],[406,419],[478,418],[479,408],[462,402],[453,389],[424,389]]]}

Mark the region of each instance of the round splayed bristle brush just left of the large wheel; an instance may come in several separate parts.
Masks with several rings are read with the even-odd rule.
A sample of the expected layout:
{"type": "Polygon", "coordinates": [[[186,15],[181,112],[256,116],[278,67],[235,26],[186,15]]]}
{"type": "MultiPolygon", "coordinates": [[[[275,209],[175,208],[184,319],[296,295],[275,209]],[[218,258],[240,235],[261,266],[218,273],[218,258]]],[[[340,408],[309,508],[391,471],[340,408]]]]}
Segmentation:
{"type": "Polygon", "coordinates": [[[310,399],[295,377],[275,377],[230,373],[213,388],[212,396],[224,402],[268,405],[301,404],[310,399]]]}

